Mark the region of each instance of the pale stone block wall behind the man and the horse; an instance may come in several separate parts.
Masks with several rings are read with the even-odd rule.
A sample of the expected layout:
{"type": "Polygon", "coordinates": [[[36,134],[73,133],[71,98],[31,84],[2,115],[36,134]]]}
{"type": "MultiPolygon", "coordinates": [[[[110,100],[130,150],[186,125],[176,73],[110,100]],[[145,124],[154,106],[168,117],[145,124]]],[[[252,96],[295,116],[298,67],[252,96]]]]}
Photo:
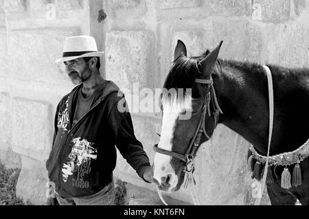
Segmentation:
{"type": "MultiPolygon", "coordinates": [[[[0,0],[0,159],[21,167],[17,195],[37,205],[45,201],[54,112],[73,88],[54,63],[65,37],[95,37],[106,51],[102,75],[122,90],[133,91],[136,84],[155,90],[163,85],[178,39],[189,55],[224,40],[220,57],[308,67],[308,21],[309,0],[0,0]],[[104,21],[99,10],[107,14],[104,21]]],[[[130,110],[152,162],[161,115],[130,110]]],[[[218,126],[198,152],[196,181],[204,205],[253,201],[249,144],[236,137],[218,126]]],[[[121,155],[115,176],[155,191],[121,155]]],[[[192,203],[185,190],[168,196],[192,203]]]]}

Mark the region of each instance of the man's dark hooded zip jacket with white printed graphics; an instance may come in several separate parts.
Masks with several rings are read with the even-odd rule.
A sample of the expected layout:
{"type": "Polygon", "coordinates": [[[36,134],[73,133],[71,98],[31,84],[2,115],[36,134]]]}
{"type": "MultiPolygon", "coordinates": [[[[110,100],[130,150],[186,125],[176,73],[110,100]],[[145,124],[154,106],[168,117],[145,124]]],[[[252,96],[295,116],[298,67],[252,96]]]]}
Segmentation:
{"type": "Polygon", "coordinates": [[[76,86],[58,104],[52,151],[46,162],[49,180],[62,197],[89,196],[111,183],[115,146],[139,177],[143,178],[150,166],[141,142],[135,138],[130,113],[124,111],[124,95],[112,81],[104,81],[89,112],[72,126],[81,88],[82,84],[76,86]],[[121,110],[119,106],[123,106],[121,110]]]}

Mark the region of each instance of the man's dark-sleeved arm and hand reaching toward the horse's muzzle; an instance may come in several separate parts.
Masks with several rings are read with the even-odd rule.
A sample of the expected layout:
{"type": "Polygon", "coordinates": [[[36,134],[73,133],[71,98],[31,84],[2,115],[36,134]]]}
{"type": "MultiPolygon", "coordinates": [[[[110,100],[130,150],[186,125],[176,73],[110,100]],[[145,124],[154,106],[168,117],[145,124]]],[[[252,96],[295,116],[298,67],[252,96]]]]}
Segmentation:
{"type": "Polygon", "coordinates": [[[113,107],[108,116],[108,123],[113,130],[117,149],[128,164],[137,171],[139,177],[150,183],[152,182],[152,170],[148,156],[141,142],[135,138],[130,113],[127,110],[126,112],[119,112],[117,106],[119,101],[121,101],[119,97],[111,97],[110,103],[113,103],[113,107]]]}

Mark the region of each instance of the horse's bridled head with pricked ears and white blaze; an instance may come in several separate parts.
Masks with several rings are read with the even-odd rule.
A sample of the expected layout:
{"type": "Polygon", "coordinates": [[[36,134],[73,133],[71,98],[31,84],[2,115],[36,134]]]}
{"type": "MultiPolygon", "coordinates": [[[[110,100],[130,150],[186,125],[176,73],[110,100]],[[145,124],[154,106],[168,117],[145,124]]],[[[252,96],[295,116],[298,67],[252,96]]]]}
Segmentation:
{"type": "Polygon", "coordinates": [[[211,93],[211,75],[218,70],[216,61],[221,44],[211,53],[187,57],[185,44],[180,40],[177,43],[174,64],[163,86],[161,138],[155,146],[153,171],[160,190],[179,190],[187,162],[216,127],[214,114],[218,115],[220,107],[212,98],[214,95],[216,99],[216,95],[214,89],[211,93]]]}

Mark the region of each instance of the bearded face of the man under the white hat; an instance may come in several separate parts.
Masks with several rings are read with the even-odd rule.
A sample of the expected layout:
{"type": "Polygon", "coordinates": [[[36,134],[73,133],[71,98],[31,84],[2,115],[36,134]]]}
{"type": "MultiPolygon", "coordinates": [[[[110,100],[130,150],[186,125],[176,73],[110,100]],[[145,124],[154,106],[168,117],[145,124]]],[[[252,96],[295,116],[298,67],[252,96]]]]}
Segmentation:
{"type": "Polygon", "coordinates": [[[64,62],[65,71],[74,84],[80,84],[91,77],[91,70],[83,58],[64,62]]]}

